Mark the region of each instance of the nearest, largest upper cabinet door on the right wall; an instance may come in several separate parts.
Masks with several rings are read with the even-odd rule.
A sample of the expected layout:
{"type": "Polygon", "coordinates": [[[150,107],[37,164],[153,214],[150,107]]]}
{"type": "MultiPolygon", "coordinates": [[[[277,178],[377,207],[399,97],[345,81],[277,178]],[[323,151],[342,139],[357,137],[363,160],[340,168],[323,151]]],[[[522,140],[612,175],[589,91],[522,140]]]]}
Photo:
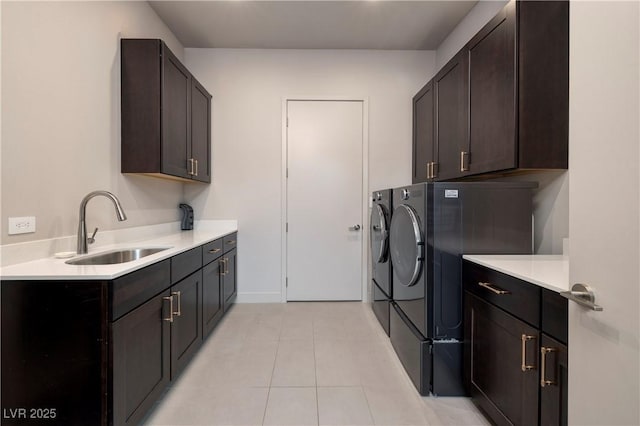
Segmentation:
{"type": "Polygon", "coordinates": [[[502,9],[467,45],[473,174],[517,167],[515,3],[502,9]]]}

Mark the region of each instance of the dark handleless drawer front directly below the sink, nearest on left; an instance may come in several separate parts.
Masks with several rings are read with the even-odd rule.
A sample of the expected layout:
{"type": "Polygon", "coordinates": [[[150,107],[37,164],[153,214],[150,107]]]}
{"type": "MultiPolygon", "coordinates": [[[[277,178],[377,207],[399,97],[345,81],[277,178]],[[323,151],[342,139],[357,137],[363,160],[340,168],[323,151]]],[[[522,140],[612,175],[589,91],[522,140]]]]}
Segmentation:
{"type": "Polygon", "coordinates": [[[110,319],[117,320],[171,285],[169,260],[156,263],[113,281],[110,319]]]}

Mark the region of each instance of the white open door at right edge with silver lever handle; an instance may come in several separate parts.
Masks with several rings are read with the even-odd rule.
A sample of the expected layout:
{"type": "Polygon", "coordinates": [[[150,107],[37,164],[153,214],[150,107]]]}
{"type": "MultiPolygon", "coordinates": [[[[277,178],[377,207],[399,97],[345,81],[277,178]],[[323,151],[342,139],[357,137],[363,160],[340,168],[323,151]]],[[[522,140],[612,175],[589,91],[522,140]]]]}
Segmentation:
{"type": "Polygon", "coordinates": [[[571,2],[569,424],[640,424],[639,3],[571,2]]]}

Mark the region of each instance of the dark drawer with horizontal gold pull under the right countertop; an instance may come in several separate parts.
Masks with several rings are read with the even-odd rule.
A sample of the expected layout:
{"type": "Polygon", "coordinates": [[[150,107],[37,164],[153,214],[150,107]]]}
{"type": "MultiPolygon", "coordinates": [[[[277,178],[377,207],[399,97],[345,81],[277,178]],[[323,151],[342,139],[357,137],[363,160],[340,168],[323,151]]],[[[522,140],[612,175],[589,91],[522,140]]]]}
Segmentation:
{"type": "Polygon", "coordinates": [[[466,260],[463,280],[465,290],[540,327],[540,287],[466,260]]]}

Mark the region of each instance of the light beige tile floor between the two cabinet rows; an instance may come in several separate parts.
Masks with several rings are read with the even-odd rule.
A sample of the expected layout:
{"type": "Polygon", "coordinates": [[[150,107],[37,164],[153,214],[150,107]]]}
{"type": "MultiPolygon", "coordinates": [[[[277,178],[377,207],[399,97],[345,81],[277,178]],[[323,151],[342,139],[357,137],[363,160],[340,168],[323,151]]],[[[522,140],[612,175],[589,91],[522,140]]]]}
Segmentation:
{"type": "Polygon", "coordinates": [[[147,416],[151,425],[487,425],[423,398],[371,307],[238,304],[147,416]]]}

